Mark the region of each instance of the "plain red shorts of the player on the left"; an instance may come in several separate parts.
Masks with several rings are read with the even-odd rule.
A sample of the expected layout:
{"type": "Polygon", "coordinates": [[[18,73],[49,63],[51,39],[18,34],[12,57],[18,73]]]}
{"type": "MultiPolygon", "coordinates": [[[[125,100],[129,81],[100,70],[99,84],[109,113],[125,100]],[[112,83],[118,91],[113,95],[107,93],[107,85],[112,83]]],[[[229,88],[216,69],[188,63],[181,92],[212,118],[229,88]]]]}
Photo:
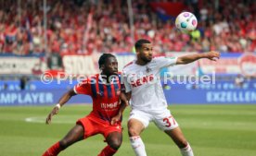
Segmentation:
{"type": "Polygon", "coordinates": [[[76,124],[80,124],[83,126],[84,135],[83,138],[89,138],[96,134],[102,134],[104,138],[107,138],[112,132],[120,132],[122,133],[122,125],[121,122],[118,124],[111,126],[109,121],[102,120],[94,114],[89,114],[79,120],[77,120],[76,124]]]}

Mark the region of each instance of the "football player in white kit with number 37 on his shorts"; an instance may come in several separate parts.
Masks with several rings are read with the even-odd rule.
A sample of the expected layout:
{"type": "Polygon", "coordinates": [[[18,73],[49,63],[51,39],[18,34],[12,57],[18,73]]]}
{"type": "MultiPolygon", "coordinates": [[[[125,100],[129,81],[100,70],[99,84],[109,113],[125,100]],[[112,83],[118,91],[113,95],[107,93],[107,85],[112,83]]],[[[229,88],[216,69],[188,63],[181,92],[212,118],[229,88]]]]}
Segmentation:
{"type": "Polygon", "coordinates": [[[200,58],[216,61],[220,54],[209,52],[180,57],[154,57],[151,42],[141,39],[135,43],[136,59],[124,66],[124,85],[131,99],[132,111],[128,121],[128,132],[136,156],[147,156],[140,138],[149,122],[173,139],[183,156],[194,156],[181,128],[167,109],[167,102],[160,84],[160,69],[167,66],[192,63],[200,58]]]}

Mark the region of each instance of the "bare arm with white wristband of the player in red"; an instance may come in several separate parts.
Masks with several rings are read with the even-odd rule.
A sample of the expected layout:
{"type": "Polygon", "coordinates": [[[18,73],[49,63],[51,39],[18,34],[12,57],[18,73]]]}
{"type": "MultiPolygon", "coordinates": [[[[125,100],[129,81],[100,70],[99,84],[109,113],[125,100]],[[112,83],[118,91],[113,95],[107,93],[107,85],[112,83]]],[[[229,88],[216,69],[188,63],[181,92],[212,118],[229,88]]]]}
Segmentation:
{"type": "Polygon", "coordinates": [[[70,98],[72,96],[76,95],[76,93],[74,92],[74,90],[69,90],[68,92],[66,92],[58,101],[58,104],[56,104],[56,106],[53,108],[53,110],[50,112],[50,114],[48,114],[47,118],[46,118],[46,124],[50,124],[51,120],[52,120],[52,116],[55,114],[58,114],[58,110],[59,108],[64,105],[66,102],[69,102],[70,98]]]}

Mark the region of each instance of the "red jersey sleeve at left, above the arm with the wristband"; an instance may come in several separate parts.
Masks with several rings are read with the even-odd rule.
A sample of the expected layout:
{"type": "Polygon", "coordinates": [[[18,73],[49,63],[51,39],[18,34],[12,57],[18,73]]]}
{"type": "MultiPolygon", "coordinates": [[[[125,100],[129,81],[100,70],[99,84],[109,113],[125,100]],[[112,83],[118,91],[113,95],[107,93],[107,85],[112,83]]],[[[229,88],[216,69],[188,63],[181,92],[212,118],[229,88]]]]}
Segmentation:
{"type": "Polygon", "coordinates": [[[76,94],[86,94],[86,95],[92,94],[88,78],[83,79],[82,82],[74,86],[73,90],[76,94]]]}

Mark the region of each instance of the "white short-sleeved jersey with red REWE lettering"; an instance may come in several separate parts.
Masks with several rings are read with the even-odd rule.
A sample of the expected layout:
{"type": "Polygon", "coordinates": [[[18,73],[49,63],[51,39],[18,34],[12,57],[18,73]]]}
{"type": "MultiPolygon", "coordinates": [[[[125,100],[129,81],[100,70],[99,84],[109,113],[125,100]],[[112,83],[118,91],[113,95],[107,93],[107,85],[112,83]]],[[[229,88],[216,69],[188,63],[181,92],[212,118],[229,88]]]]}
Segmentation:
{"type": "Polygon", "coordinates": [[[177,57],[155,57],[147,65],[139,66],[135,60],[123,68],[126,92],[132,91],[132,109],[161,111],[167,102],[160,83],[160,69],[176,64],[177,57]]]}

